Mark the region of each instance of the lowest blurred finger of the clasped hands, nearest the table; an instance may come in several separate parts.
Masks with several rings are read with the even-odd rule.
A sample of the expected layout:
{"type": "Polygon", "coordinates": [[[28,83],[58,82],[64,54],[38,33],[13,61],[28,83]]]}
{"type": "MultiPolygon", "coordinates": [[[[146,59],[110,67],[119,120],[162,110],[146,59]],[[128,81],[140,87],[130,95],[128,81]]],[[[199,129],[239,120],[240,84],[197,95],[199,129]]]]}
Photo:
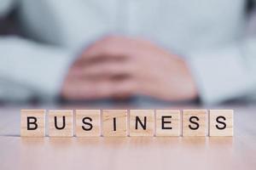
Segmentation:
{"type": "Polygon", "coordinates": [[[107,99],[116,96],[129,97],[136,94],[136,82],[126,81],[104,81],[75,82],[65,89],[63,97],[66,99],[107,99]]]}

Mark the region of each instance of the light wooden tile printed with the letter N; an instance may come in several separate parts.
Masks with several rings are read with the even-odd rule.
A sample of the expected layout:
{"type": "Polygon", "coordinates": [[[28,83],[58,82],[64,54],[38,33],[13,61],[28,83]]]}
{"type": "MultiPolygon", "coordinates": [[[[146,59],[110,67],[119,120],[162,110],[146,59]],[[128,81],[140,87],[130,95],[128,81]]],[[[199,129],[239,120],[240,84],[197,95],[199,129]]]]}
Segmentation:
{"type": "Polygon", "coordinates": [[[130,111],[130,136],[154,136],[154,111],[130,111]]]}

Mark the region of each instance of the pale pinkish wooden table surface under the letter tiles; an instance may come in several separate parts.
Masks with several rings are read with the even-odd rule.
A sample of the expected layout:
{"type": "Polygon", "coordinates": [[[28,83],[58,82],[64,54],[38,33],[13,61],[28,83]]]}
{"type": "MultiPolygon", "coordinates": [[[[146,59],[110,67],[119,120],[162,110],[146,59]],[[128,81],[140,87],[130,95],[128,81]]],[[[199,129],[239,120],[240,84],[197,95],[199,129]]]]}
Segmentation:
{"type": "Polygon", "coordinates": [[[217,106],[235,110],[235,136],[210,138],[20,138],[21,108],[0,107],[1,170],[256,169],[253,105],[217,106]]]}

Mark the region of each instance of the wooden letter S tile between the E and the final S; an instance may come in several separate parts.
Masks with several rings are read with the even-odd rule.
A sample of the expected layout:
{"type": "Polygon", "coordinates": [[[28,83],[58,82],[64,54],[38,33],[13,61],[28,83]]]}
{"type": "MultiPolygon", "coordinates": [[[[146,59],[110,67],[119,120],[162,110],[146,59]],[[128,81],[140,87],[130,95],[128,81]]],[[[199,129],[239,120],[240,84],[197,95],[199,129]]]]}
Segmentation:
{"type": "Polygon", "coordinates": [[[183,111],[183,136],[206,136],[206,110],[183,111]]]}

